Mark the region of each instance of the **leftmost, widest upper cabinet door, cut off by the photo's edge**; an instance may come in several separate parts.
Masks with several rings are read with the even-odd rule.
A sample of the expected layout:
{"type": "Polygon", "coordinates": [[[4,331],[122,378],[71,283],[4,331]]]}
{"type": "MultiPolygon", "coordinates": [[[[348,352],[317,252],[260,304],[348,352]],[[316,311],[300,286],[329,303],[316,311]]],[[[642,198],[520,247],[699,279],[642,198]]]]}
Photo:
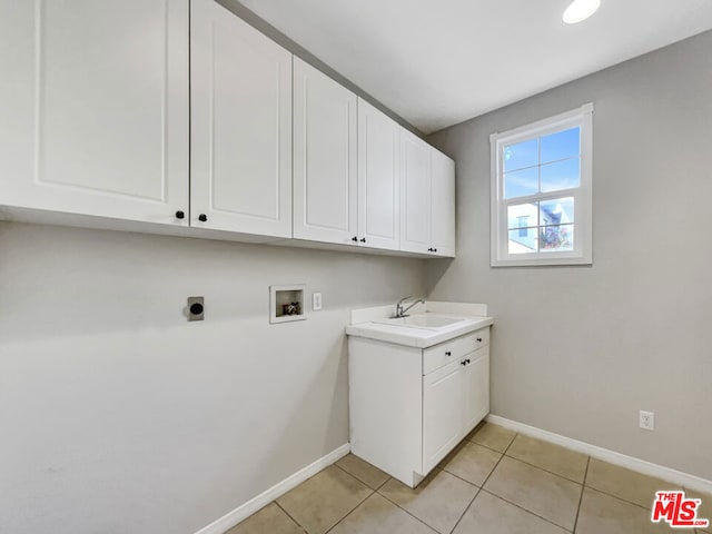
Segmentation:
{"type": "Polygon", "coordinates": [[[0,12],[0,205],[187,225],[188,0],[0,12]]]}

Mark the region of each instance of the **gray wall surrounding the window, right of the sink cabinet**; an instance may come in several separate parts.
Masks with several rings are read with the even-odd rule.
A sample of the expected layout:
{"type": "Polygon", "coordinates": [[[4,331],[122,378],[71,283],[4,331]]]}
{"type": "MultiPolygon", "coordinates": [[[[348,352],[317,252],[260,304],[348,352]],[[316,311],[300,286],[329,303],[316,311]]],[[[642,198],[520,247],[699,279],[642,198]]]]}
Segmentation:
{"type": "Polygon", "coordinates": [[[493,413],[712,479],[712,32],[429,140],[457,161],[458,229],[429,296],[496,317],[493,413]],[[490,134],[585,102],[593,266],[490,267],[490,134]]]}

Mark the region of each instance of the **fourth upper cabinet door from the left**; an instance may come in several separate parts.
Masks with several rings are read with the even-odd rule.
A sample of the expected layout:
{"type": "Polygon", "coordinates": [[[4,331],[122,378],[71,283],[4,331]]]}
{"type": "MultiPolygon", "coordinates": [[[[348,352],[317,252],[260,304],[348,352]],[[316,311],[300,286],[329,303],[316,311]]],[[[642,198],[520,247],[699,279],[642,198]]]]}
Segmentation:
{"type": "Polygon", "coordinates": [[[400,126],[358,99],[358,243],[398,250],[400,126]]]}

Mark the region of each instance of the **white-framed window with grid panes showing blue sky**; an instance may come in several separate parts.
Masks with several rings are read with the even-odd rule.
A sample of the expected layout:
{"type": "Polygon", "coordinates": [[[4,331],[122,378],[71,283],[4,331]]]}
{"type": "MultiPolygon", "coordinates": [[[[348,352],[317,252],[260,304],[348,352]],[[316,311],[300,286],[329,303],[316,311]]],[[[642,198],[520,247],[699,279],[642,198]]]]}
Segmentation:
{"type": "Polygon", "coordinates": [[[492,144],[492,265],[591,264],[593,105],[492,144]]]}

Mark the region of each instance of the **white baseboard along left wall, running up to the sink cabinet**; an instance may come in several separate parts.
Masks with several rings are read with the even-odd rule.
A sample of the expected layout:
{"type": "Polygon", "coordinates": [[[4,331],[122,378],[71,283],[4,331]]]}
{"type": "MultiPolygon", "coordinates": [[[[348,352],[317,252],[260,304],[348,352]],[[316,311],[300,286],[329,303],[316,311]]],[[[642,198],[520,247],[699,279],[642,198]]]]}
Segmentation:
{"type": "Polygon", "coordinates": [[[228,530],[233,528],[239,522],[246,520],[258,510],[267,506],[277,497],[280,497],[289,490],[298,486],[307,478],[316,475],[319,471],[328,467],[329,465],[338,462],[346,456],[350,451],[350,444],[346,443],[335,451],[332,451],[326,456],[320,457],[316,462],[307,465],[303,469],[297,471],[294,475],[288,476],[284,481],[275,484],[269,490],[260,493],[255,498],[238,506],[233,512],[228,512],[226,515],[217,521],[214,521],[208,526],[200,528],[196,534],[225,534],[228,530]]]}

